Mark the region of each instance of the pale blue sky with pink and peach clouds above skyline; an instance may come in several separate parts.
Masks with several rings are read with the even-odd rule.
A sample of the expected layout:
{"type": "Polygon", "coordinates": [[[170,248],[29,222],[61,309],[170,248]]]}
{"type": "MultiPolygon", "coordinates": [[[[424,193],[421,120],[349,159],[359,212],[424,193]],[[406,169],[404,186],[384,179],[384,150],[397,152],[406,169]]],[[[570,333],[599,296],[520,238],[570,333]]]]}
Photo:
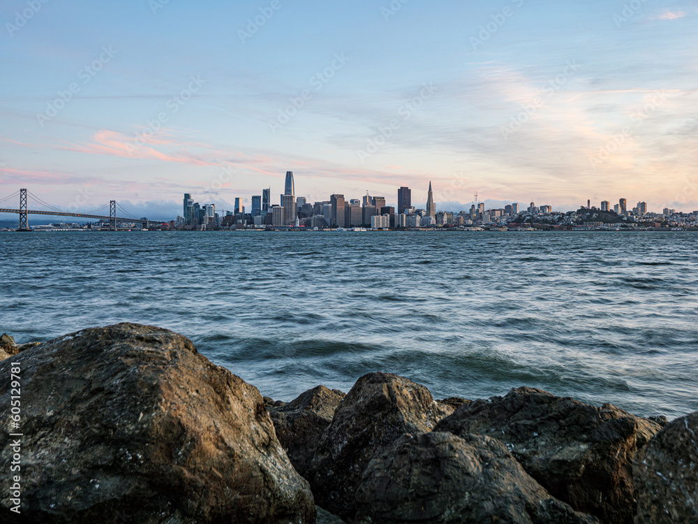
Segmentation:
{"type": "MultiPolygon", "coordinates": [[[[3,0],[0,198],[698,209],[698,1],[3,0]]],[[[0,214],[0,219],[16,215],[0,214]]]]}

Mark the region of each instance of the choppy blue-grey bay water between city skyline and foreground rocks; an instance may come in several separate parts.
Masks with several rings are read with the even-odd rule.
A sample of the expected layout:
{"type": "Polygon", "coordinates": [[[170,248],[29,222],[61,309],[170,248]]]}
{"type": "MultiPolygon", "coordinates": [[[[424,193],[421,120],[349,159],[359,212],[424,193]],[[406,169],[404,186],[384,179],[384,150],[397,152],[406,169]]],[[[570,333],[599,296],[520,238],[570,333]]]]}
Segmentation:
{"type": "Polygon", "coordinates": [[[514,386],[698,409],[696,233],[0,233],[0,331],[190,337],[290,400],[389,371],[437,398],[514,386]]]}

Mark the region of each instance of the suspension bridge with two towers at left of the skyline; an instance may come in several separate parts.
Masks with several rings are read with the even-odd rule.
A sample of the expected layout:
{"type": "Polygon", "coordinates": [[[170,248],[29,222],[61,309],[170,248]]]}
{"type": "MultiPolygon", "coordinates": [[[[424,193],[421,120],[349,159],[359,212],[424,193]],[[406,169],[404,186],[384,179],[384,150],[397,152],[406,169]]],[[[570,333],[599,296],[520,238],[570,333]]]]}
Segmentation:
{"type": "MultiPolygon", "coordinates": [[[[16,200],[14,200],[16,202],[16,200]]],[[[128,211],[124,210],[117,201],[110,201],[108,204],[103,204],[96,210],[92,210],[87,213],[71,213],[68,211],[61,210],[54,205],[45,203],[43,200],[38,198],[35,194],[31,193],[27,189],[20,189],[15,191],[10,196],[0,198],[0,213],[17,213],[20,215],[20,227],[17,231],[31,231],[29,228],[28,217],[30,214],[48,214],[52,217],[78,217],[78,218],[88,218],[96,220],[108,220],[110,231],[117,230],[117,222],[140,222],[143,227],[148,227],[148,219],[136,218],[128,211]],[[10,208],[13,203],[13,199],[19,198],[19,208],[10,208]],[[36,208],[43,209],[29,209],[29,206],[36,206],[36,208]],[[7,206],[7,207],[6,207],[7,206]],[[98,212],[105,212],[109,208],[109,214],[97,214],[98,212]],[[117,217],[117,210],[124,214],[124,217],[117,217]]]]}

